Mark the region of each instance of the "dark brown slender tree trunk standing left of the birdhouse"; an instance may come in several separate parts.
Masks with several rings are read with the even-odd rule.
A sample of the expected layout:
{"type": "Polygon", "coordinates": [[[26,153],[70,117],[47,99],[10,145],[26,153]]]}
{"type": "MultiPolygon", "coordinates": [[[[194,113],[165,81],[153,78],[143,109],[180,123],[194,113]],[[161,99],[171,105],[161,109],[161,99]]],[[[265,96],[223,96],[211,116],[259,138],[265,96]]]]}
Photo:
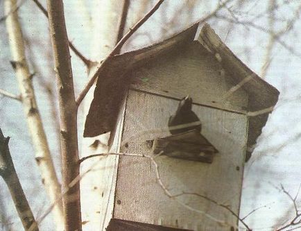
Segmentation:
{"type": "Polygon", "coordinates": [[[60,110],[62,148],[62,205],[65,231],[80,231],[80,183],[78,164],[77,105],[71,70],[69,42],[62,0],[47,0],[49,27],[60,110]]]}

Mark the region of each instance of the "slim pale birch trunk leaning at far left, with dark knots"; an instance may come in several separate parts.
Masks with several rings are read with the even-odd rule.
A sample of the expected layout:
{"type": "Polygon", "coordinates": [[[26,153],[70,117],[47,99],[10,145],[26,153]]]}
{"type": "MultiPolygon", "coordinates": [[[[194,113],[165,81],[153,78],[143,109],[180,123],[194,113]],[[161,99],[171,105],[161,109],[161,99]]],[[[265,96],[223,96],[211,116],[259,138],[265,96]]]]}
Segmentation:
{"type": "MultiPolygon", "coordinates": [[[[49,145],[46,140],[42,119],[40,117],[37,103],[35,101],[35,92],[31,83],[31,73],[26,62],[24,39],[22,29],[19,24],[17,10],[13,10],[17,5],[16,0],[4,1],[6,15],[6,27],[10,42],[10,51],[12,54],[12,64],[15,65],[15,72],[21,92],[21,100],[24,114],[28,124],[28,130],[35,150],[35,160],[40,168],[42,182],[47,194],[54,203],[60,198],[61,189],[58,178],[55,173],[53,161],[49,151],[49,145]]],[[[62,204],[56,203],[53,207],[53,217],[57,230],[63,230],[64,220],[62,216],[62,204]]]]}

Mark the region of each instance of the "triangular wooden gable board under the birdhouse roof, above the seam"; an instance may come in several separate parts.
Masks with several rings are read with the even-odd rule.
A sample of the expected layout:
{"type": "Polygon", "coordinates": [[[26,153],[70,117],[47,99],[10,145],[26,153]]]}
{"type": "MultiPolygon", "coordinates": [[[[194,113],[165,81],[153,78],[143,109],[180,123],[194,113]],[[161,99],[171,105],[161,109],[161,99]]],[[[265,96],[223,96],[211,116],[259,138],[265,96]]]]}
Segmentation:
{"type": "Polygon", "coordinates": [[[233,87],[231,76],[198,42],[158,55],[132,75],[133,89],[175,99],[189,94],[194,103],[225,110],[246,112],[248,107],[248,94],[243,89],[223,100],[233,87]]]}

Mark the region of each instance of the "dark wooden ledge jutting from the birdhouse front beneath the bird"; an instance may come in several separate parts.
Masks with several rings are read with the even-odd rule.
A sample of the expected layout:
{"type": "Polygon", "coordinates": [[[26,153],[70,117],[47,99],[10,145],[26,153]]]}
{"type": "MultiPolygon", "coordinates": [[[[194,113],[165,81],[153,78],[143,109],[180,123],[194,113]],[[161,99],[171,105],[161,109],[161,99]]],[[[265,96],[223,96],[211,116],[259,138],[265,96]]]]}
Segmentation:
{"type": "Polygon", "coordinates": [[[147,144],[153,147],[155,155],[206,163],[212,163],[214,153],[218,153],[218,150],[196,129],[148,140],[147,144]]]}

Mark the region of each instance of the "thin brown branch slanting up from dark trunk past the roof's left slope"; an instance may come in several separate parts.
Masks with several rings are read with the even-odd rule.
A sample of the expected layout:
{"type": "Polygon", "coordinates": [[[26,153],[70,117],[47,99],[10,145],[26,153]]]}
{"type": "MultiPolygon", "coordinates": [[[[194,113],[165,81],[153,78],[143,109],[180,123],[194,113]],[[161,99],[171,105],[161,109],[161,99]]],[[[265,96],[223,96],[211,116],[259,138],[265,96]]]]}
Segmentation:
{"type": "MultiPolygon", "coordinates": [[[[33,1],[37,1],[37,0],[33,0],[33,1]]],[[[135,31],[137,31],[137,29],[142,26],[144,24],[144,22],[146,22],[151,15],[153,15],[153,13],[161,6],[161,4],[164,2],[164,0],[160,0],[158,1],[155,6],[153,8],[150,9],[150,11],[148,11],[148,13],[146,15],[144,15],[144,17],[142,17],[139,22],[137,22],[137,24],[135,24],[135,26],[133,26],[130,31],[128,31],[128,33],[126,33],[126,35],[124,35],[121,40],[117,43],[117,45],[114,47],[114,49],[111,51],[111,53],[107,56],[107,58],[105,58],[105,60],[103,60],[98,67],[96,67],[96,71],[95,74],[92,76],[92,78],[89,79],[87,85],[85,85],[84,89],[82,92],[80,92],[80,94],[78,95],[78,98],[76,99],[76,104],[80,105],[80,103],[83,101],[83,99],[85,98],[87,92],[89,92],[89,89],[92,87],[92,85],[94,84],[96,78],[101,74],[101,71],[103,71],[107,61],[114,55],[116,55],[121,47],[123,46],[123,44],[126,43],[126,41],[128,40],[128,38],[130,36],[132,36],[133,33],[135,33],[135,31]]]]}

